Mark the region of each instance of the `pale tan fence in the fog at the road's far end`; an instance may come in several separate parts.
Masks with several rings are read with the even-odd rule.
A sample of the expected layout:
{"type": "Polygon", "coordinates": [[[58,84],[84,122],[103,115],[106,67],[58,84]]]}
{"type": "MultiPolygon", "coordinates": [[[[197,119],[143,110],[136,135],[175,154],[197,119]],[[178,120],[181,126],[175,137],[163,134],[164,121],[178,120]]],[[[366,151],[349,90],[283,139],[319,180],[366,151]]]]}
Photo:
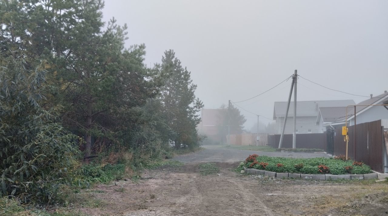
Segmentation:
{"type": "Polygon", "coordinates": [[[243,133],[226,136],[227,145],[255,145],[265,146],[268,143],[267,133],[243,133]],[[257,136],[259,140],[257,141],[257,136]]]}

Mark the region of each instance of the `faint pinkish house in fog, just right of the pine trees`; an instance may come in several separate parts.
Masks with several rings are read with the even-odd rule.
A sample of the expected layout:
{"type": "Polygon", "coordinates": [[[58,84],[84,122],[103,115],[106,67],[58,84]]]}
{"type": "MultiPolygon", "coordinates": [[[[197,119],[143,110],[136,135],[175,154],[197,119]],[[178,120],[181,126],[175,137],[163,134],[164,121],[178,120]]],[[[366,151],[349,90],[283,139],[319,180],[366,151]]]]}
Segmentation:
{"type": "Polygon", "coordinates": [[[215,142],[221,142],[222,137],[220,136],[218,128],[221,111],[221,109],[202,109],[201,122],[197,126],[198,133],[206,135],[215,142]]]}

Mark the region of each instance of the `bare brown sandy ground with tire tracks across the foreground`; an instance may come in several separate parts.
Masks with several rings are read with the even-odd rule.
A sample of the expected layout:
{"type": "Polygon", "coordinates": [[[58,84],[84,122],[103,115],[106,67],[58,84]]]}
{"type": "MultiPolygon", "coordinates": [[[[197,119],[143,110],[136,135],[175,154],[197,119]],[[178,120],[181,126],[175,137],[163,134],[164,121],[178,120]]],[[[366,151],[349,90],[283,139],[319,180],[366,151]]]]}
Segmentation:
{"type": "Polygon", "coordinates": [[[186,162],[184,166],[146,170],[142,173],[143,180],[137,183],[97,185],[86,194],[98,205],[79,211],[94,216],[388,216],[388,183],[242,175],[232,170],[239,162],[227,161],[240,161],[242,155],[244,159],[246,153],[252,152],[243,152],[241,157],[232,152],[232,159],[222,159],[223,151],[207,149],[180,156],[178,159],[186,162]],[[208,150],[215,152],[211,155],[208,150]],[[217,164],[219,173],[201,175],[199,164],[210,161],[217,164]]]}

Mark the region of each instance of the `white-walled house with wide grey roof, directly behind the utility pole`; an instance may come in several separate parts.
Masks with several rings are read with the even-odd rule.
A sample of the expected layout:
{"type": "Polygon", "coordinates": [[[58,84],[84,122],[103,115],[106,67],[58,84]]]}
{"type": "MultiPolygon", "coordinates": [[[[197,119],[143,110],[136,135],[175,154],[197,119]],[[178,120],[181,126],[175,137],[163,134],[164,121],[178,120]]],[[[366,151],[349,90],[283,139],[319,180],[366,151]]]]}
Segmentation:
{"type": "MultiPolygon", "coordinates": [[[[296,103],[296,133],[323,133],[324,130],[317,124],[319,109],[322,107],[346,107],[354,105],[353,100],[312,100],[298,101],[296,103]]],[[[283,130],[286,116],[287,102],[275,102],[274,116],[277,134],[283,130]]],[[[291,102],[286,123],[285,134],[294,132],[294,102],[291,102]]]]}

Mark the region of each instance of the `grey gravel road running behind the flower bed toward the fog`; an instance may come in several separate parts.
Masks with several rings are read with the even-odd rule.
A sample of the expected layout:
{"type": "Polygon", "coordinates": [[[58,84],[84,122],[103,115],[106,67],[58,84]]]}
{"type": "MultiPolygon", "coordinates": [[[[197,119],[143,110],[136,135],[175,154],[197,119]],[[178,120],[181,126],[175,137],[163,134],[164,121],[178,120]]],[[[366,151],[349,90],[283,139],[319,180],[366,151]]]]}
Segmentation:
{"type": "Polygon", "coordinates": [[[305,152],[261,152],[252,150],[229,149],[218,145],[204,145],[204,150],[174,157],[174,160],[184,163],[202,162],[237,162],[245,160],[250,154],[267,155],[274,157],[329,157],[325,153],[305,153],[305,152]]]}

